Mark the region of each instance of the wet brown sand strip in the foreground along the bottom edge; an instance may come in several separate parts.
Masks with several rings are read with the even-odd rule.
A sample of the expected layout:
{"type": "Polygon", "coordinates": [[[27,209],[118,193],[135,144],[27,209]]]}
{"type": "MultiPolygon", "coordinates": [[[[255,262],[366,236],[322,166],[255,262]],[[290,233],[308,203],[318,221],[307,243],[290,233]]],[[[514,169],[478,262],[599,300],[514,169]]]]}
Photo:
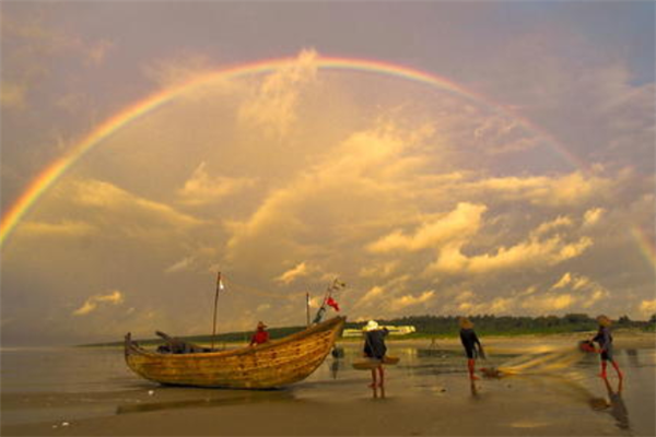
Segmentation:
{"type": "MultiPolygon", "coordinates": [[[[362,385],[363,393],[367,392],[362,385]]],[[[481,385],[479,385],[481,386],[481,385]]],[[[465,392],[470,390],[462,387],[465,392]]],[[[443,389],[441,389],[443,390],[443,389]]],[[[15,436],[420,436],[420,435],[613,435],[610,421],[581,414],[587,405],[575,403],[569,415],[554,421],[542,411],[552,399],[527,397],[522,391],[500,397],[479,387],[477,394],[405,395],[390,382],[385,398],[364,397],[298,400],[290,392],[230,393],[197,403],[174,395],[118,414],[61,423],[2,426],[15,436]],[[246,408],[245,408],[246,406],[246,408]],[[149,411],[150,409],[150,411],[149,411]],[[508,415],[508,411],[513,414],[508,415]]],[[[161,390],[160,390],[161,391],[161,390]]],[[[133,400],[134,394],[129,397],[133,400]]],[[[161,393],[159,393],[161,394],[161,393]]]]}

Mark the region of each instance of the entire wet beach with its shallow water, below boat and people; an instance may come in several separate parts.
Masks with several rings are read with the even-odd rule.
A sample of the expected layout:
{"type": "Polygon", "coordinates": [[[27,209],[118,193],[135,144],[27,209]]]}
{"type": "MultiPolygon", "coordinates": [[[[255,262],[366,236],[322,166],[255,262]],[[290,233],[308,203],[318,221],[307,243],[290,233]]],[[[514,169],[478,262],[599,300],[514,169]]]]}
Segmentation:
{"type": "MultiPolygon", "coordinates": [[[[483,339],[489,357],[478,367],[499,366],[527,351],[538,355],[544,349],[564,350],[579,336],[483,339]]],[[[618,334],[616,345],[625,373],[622,387],[612,370],[608,385],[596,376],[598,356],[583,356],[560,371],[470,383],[456,339],[434,344],[390,341],[388,353],[399,356],[400,363],[387,368],[384,392],[367,387],[368,371],[352,368],[360,356],[358,342],[340,343],[344,357],[329,355],[306,380],[265,391],[159,386],[131,374],[118,349],[14,351],[13,357],[3,351],[1,432],[7,436],[653,436],[654,335],[618,334]],[[56,357],[62,353],[79,355],[78,361],[68,358],[68,369],[58,368],[63,364],[56,357]],[[37,357],[51,368],[50,375],[30,374],[25,363],[37,357]],[[57,375],[59,380],[52,380],[57,375]]]]}

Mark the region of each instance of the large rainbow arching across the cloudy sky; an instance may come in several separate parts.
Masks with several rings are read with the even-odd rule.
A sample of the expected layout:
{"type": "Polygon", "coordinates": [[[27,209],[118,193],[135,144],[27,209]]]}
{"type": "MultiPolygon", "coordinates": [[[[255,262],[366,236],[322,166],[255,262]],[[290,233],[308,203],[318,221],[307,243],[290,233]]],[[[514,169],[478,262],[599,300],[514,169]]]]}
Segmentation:
{"type": "MultiPolygon", "coordinates": [[[[194,91],[194,88],[207,84],[210,81],[220,79],[230,80],[246,75],[271,73],[283,67],[292,66],[295,62],[297,62],[297,58],[280,58],[254,63],[239,64],[232,68],[200,74],[185,83],[154,93],[149,97],[137,102],[136,104],[114,115],[101,126],[95,128],[85,138],[83,138],[66,155],[46,166],[46,168],[44,168],[38,174],[38,176],[30,182],[25,191],[2,216],[2,221],[0,222],[0,247],[4,245],[8,237],[11,235],[11,233],[21,222],[21,220],[25,216],[25,214],[27,214],[31,208],[69,168],[71,168],[82,156],[84,156],[84,154],[86,154],[96,145],[101,144],[104,140],[112,137],[112,134],[118,131],[121,127],[165,105],[166,103],[173,101],[183,93],[194,91]]],[[[408,67],[366,59],[317,56],[316,59],[313,60],[313,62],[314,66],[316,66],[318,69],[324,70],[371,72],[410,80],[430,86],[436,86],[441,90],[464,96],[479,104],[484,104],[487,106],[495,108],[501,113],[512,116],[523,126],[530,129],[532,132],[538,133],[542,139],[548,140],[548,142],[557,150],[557,152],[574,167],[581,169],[586,168],[585,163],[583,163],[579,158],[577,158],[575,155],[569,152],[565,146],[563,146],[548,132],[532,125],[530,121],[517,116],[512,110],[503,107],[502,105],[492,104],[488,98],[483,97],[482,95],[466,90],[462,86],[456,84],[455,82],[449,81],[448,79],[441,78],[408,67]]]]}

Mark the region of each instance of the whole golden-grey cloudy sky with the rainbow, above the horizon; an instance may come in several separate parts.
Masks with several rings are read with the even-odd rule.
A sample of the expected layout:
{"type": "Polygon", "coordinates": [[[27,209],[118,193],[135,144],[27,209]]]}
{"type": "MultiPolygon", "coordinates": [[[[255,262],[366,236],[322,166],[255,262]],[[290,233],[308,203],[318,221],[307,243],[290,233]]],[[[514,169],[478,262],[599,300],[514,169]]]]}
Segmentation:
{"type": "Polygon", "coordinates": [[[653,2],[0,19],[2,345],[656,312],[653,2]]]}

